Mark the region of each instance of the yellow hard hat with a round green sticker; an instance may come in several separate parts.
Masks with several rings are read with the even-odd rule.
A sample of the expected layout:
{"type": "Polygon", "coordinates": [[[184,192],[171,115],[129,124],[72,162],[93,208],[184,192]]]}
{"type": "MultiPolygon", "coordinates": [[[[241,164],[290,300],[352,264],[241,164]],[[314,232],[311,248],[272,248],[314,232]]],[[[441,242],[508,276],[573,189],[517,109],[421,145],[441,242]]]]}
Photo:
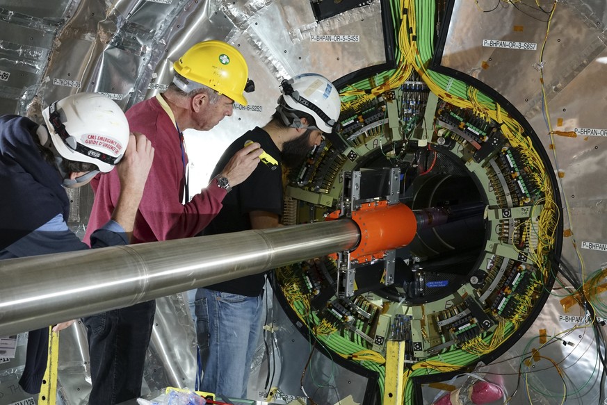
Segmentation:
{"type": "MultiPolygon", "coordinates": [[[[238,49],[226,42],[198,42],[173,65],[175,72],[188,81],[206,85],[220,94],[246,106],[243,92],[250,91],[249,69],[238,49]]],[[[184,90],[190,83],[174,80],[184,90]]]]}

